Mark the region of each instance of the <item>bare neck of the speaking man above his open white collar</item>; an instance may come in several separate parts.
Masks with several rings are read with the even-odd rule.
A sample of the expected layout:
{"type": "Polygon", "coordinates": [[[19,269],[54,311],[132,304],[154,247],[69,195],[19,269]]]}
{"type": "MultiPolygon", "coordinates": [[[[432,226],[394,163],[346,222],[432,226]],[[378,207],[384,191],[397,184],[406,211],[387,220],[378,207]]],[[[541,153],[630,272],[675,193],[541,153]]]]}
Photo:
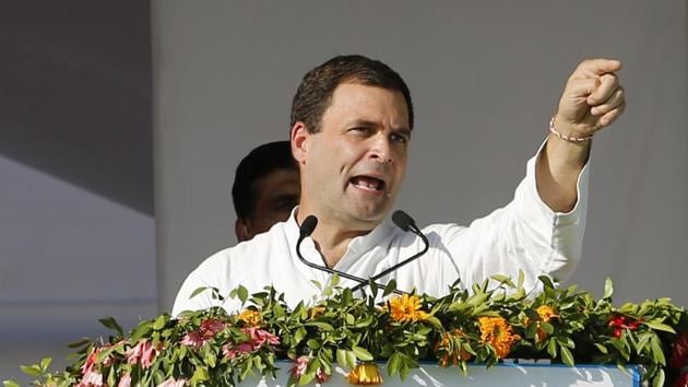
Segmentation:
{"type": "Polygon", "coordinates": [[[304,219],[310,214],[318,216],[318,226],[310,237],[329,268],[333,268],[344,257],[352,239],[372,231],[371,226],[358,228],[347,226],[330,216],[301,211],[301,208],[296,213],[296,222],[301,224],[304,219]]]}

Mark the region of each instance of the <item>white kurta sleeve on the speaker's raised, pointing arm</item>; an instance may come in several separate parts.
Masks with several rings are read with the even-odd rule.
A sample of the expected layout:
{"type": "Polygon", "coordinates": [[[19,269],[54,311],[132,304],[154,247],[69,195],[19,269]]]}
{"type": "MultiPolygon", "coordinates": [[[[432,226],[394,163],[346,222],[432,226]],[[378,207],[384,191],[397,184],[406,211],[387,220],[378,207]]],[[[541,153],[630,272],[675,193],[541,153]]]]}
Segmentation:
{"type": "MultiPolygon", "coordinates": [[[[468,227],[455,226],[442,235],[463,286],[482,283],[493,274],[515,279],[522,270],[524,286],[531,291],[539,286],[537,277],[546,274],[566,280],[576,268],[585,228],[588,166],[578,176],[578,201],[573,209],[567,213],[555,212],[537,190],[535,162],[538,156],[539,152],[527,162],[526,175],[510,203],[475,220],[468,227]]],[[[451,274],[444,273],[446,277],[451,274]]],[[[443,278],[447,283],[454,280],[443,278]]]]}

